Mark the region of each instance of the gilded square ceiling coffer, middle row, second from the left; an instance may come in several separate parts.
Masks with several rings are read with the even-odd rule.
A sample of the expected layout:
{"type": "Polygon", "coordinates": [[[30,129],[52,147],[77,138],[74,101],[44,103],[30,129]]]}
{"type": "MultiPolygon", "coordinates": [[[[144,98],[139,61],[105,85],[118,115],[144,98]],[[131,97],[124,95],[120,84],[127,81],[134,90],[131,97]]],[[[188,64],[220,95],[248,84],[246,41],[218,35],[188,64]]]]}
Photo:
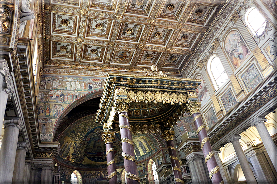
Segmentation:
{"type": "Polygon", "coordinates": [[[109,19],[88,17],[85,38],[109,40],[113,22],[109,19]]]}

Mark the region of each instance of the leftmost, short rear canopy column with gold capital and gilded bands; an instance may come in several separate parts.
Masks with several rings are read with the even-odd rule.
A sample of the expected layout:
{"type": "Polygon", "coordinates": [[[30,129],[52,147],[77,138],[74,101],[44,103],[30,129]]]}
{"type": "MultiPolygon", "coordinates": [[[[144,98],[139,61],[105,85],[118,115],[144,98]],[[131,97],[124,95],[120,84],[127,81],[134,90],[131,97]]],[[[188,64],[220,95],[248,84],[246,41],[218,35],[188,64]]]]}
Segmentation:
{"type": "Polygon", "coordinates": [[[106,146],[108,180],[110,184],[117,184],[116,168],[115,168],[115,152],[113,142],[115,140],[115,132],[103,132],[102,139],[106,146]]]}

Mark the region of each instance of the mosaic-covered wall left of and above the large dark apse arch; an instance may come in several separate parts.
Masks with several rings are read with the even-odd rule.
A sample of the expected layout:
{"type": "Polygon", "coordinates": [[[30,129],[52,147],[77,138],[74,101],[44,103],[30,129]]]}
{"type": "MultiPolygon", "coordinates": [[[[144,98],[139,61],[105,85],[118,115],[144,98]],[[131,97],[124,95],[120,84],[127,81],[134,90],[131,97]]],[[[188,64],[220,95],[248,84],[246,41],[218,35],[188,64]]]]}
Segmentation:
{"type": "Polygon", "coordinates": [[[44,125],[40,124],[40,134],[46,134],[48,137],[44,141],[52,141],[53,129],[47,128],[43,132],[43,126],[53,128],[53,124],[49,124],[54,123],[71,102],[90,91],[103,89],[104,83],[105,78],[103,77],[43,75],[37,97],[37,113],[39,120],[44,118],[44,125]]]}

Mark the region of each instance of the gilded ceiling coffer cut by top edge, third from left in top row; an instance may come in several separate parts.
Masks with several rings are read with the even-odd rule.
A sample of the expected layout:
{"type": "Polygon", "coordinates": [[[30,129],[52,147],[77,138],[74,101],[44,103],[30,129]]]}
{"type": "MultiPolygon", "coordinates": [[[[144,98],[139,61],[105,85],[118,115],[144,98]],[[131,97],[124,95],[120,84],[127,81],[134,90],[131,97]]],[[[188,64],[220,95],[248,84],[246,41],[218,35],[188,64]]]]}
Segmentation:
{"type": "Polygon", "coordinates": [[[129,0],[125,13],[148,17],[154,4],[155,0],[129,0]]]}

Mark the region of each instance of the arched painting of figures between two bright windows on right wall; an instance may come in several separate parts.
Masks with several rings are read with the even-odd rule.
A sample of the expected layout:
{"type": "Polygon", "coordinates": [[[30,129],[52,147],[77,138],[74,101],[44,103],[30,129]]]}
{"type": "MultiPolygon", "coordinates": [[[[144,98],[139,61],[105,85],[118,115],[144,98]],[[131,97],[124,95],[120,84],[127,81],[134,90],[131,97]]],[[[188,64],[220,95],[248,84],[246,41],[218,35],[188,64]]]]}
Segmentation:
{"type": "Polygon", "coordinates": [[[238,31],[234,30],[229,32],[225,38],[224,45],[235,69],[237,69],[250,54],[238,31]]]}

